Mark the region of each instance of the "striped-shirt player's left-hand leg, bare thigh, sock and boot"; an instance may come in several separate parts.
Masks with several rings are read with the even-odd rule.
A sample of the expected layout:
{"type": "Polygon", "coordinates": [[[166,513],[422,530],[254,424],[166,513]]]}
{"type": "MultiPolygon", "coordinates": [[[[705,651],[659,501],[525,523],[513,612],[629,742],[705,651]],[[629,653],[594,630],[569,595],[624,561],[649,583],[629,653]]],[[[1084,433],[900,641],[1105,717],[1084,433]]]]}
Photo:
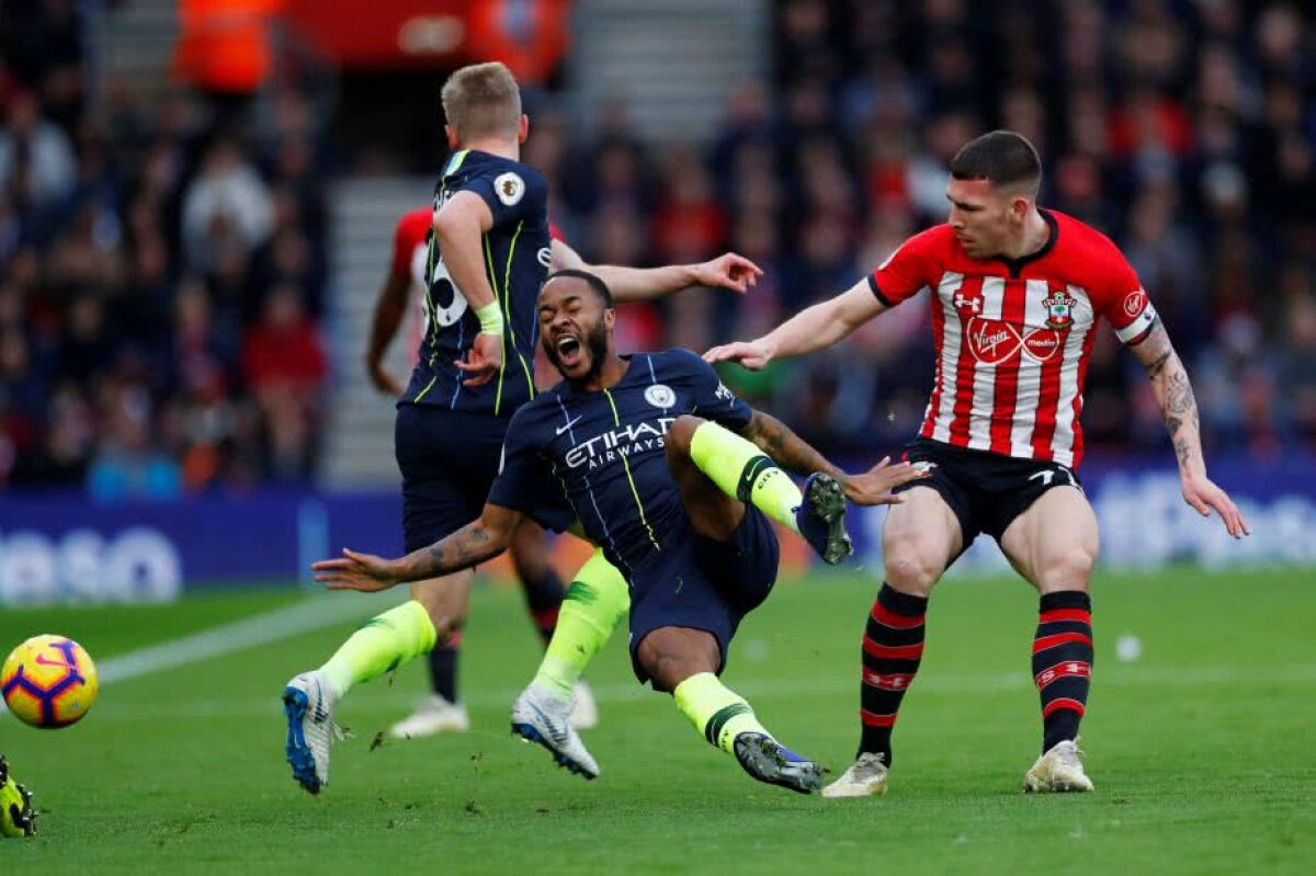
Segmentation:
{"type": "Polygon", "coordinates": [[[913,487],[901,499],[882,527],[884,581],[863,634],[859,751],[854,764],[822,789],[824,797],[886,793],[891,731],[923,659],[928,596],[963,547],[959,521],[941,493],[913,487]]]}

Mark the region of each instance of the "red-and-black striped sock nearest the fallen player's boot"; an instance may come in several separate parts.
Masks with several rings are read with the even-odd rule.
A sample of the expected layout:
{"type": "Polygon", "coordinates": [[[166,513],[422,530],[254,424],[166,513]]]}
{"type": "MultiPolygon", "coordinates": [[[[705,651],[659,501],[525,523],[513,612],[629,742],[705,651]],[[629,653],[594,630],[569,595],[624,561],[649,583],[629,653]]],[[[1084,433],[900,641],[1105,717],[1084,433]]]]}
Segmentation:
{"type": "Polygon", "coordinates": [[[891,766],[891,729],[905,688],[923,659],[923,618],[928,600],[883,583],[863,630],[863,683],[859,685],[859,719],[863,725],[859,754],[880,754],[891,766]]]}

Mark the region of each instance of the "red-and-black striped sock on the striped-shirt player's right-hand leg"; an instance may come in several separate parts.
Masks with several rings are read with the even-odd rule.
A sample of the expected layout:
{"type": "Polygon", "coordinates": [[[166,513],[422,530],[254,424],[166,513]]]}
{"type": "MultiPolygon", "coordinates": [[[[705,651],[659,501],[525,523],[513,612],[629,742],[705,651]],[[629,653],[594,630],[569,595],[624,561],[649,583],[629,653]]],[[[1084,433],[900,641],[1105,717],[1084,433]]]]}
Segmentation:
{"type": "Polygon", "coordinates": [[[1082,591],[1042,596],[1033,637],[1033,681],[1042,700],[1042,752],[1078,738],[1092,681],[1092,600],[1082,591]]]}

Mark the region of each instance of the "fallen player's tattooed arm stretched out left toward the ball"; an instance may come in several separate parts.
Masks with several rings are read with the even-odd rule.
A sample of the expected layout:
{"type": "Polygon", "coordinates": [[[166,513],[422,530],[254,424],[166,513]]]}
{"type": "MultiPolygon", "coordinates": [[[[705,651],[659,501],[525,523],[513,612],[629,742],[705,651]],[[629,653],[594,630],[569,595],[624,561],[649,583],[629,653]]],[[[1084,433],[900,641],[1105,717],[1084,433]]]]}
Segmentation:
{"type": "Polygon", "coordinates": [[[480,518],[429,547],[397,559],[342,548],[342,556],[312,563],[316,580],[330,591],[372,593],[407,581],[450,575],[497,556],[512,542],[524,514],[500,505],[486,505],[480,518]]]}

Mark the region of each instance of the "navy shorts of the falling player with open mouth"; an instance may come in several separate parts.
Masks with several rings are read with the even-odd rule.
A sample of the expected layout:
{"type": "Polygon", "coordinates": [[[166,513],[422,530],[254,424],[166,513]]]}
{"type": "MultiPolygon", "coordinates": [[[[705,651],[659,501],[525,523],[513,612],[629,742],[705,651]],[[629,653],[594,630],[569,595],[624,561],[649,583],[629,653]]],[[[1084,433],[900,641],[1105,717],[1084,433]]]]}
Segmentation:
{"type": "Polygon", "coordinates": [[[645,637],[665,626],[712,633],[726,666],[726,647],[741,620],[763,604],[776,581],[780,546],[772,525],[753,505],[729,542],[699,535],[688,521],[630,577],[630,666],[644,684],[649,673],[636,651],[645,637]]]}

